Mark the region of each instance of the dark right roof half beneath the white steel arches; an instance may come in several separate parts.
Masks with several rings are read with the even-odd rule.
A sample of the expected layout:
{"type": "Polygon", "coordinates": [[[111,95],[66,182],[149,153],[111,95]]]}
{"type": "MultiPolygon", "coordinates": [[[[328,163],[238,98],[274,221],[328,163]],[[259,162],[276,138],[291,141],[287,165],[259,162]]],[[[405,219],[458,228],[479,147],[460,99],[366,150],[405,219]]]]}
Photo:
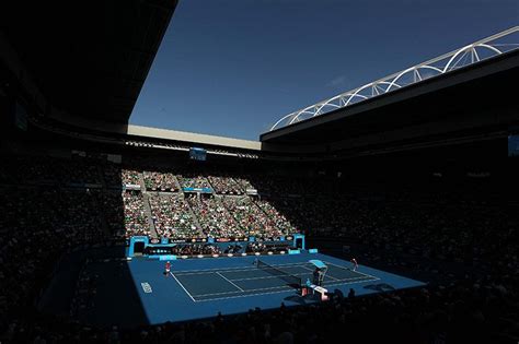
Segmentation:
{"type": "Polygon", "coordinates": [[[395,139],[403,129],[423,138],[439,128],[506,129],[519,122],[515,83],[519,78],[519,49],[455,71],[380,94],[324,116],[315,116],[263,133],[264,147],[327,146],[334,151],[367,143],[368,135],[395,139]],[[426,127],[426,123],[428,127],[426,127]],[[422,124],[422,127],[419,127],[422,124]],[[399,131],[400,130],[400,131],[399,131]]]}

